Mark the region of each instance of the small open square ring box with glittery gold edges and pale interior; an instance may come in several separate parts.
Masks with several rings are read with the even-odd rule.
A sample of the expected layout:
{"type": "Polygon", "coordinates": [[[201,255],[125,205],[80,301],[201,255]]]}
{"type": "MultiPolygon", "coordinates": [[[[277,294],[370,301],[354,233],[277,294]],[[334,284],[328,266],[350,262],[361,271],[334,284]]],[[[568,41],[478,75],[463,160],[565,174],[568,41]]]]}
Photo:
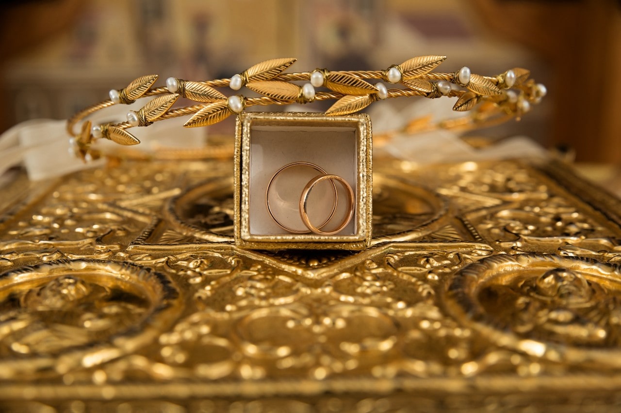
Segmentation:
{"type": "Polygon", "coordinates": [[[371,153],[368,115],[240,113],[234,156],[235,244],[248,249],[368,247],[371,153]],[[313,179],[320,175],[333,177],[322,179],[324,195],[319,179],[313,179]],[[319,195],[311,193],[314,184],[319,195]],[[318,215],[327,218],[304,227],[307,208],[311,220],[318,215]]]}

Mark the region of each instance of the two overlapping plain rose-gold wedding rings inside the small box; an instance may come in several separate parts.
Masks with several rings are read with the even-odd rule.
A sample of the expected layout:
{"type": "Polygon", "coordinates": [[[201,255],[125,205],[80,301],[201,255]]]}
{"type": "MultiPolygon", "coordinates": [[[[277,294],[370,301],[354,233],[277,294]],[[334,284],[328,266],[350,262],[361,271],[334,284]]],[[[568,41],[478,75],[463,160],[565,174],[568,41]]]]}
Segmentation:
{"type": "Polygon", "coordinates": [[[353,213],[355,210],[355,195],[354,195],[353,190],[351,189],[350,184],[347,183],[347,180],[343,179],[342,177],[338,175],[329,174],[328,172],[325,171],[325,169],[315,164],[312,164],[311,162],[292,162],[291,164],[287,164],[281,167],[280,169],[278,169],[278,171],[276,171],[276,173],[271,177],[270,183],[268,184],[268,187],[265,191],[265,201],[266,201],[266,205],[268,208],[268,212],[270,213],[274,222],[278,224],[280,228],[283,228],[286,231],[289,231],[289,233],[293,233],[293,234],[309,234],[309,233],[314,233],[317,235],[338,234],[341,231],[343,231],[343,229],[345,229],[347,224],[350,223],[351,218],[353,218],[353,213]],[[288,171],[289,169],[292,169],[294,167],[311,167],[312,169],[315,169],[315,171],[319,172],[319,175],[313,177],[311,180],[309,180],[306,186],[304,186],[304,189],[302,189],[302,193],[299,198],[300,218],[302,219],[302,223],[304,223],[306,228],[308,228],[308,231],[294,229],[294,228],[291,228],[290,226],[285,225],[281,220],[278,220],[278,218],[276,218],[276,216],[274,215],[273,206],[270,205],[270,190],[273,188],[272,184],[274,183],[274,180],[276,180],[276,177],[278,177],[278,175],[281,175],[283,174],[283,172],[288,171]],[[315,226],[313,223],[311,223],[311,219],[309,218],[308,200],[309,200],[309,195],[311,194],[311,190],[313,189],[313,187],[315,187],[315,185],[319,184],[320,182],[323,182],[324,180],[330,180],[330,184],[332,184],[332,189],[334,193],[334,204],[332,206],[332,210],[330,211],[329,216],[325,218],[324,222],[315,226]],[[347,201],[348,201],[347,212],[345,213],[345,218],[343,218],[343,221],[337,226],[337,228],[331,229],[329,231],[322,231],[322,228],[327,226],[330,223],[330,221],[332,221],[333,216],[337,212],[338,190],[337,190],[337,186],[335,185],[335,181],[338,182],[343,187],[343,189],[345,189],[345,192],[347,192],[347,201]]]}

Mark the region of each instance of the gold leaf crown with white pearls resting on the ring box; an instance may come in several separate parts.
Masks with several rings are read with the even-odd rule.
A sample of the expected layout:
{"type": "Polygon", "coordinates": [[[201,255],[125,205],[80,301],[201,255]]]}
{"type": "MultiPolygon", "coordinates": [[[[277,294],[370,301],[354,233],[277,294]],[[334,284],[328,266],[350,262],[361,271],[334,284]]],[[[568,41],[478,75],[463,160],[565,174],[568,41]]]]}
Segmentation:
{"type": "Polygon", "coordinates": [[[422,96],[430,99],[457,97],[453,110],[470,111],[468,117],[438,123],[442,128],[473,128],[489,123],[520,118],[546,94],[543,84],[530,79],[530,71],[513,68],[497,76],[471,73],[466,66],[451,72],[434,72],[446,56],[418,56],[401,64],[393,64],[376,71],[329,71],[315,69],[310,72],[284,73],[296,59],[283,58],[263,61],[235,74],[230,79],[189,81],[166,79],[165,87],[153,87],[157,75],[142,76],[124,89],[112,89],[110,99],[88,107],[68,120],[67,130],[73,136],[77,156],[84,160],[97,158],[99,153],[91,148],[94,141],[108,139],[122,145],[140,143],[127,129],[147,127],[153,122],[192,115],[184,127],[202,127],[220,122],[230,115],[242,112],[253,105],[307,104],[315,100],[336,100],[326,115],[347,115],[365,109],[378,100],[422,96]],[[371,83],[369,81],[375,81],[371,83]],[[296,82],[303,82],[302,85],[296,82]],[[384,82],[401,85],[388,89],[384,82]],[[247,87],[260,97],[237,94],[227,97],[217,87],[230,87],[238,91],[247,87]],[[324,90],[317,91],[317,88],[324,90]],[[116,104],[131,104],[142,97],[153,97],[142,109],[127,113],[127,121],[91,125],[83,123],[81,131],[76,125],[92,113],[116,104]],[[197,102],[186,107],[173,107],[179,97],[197,102]]]}

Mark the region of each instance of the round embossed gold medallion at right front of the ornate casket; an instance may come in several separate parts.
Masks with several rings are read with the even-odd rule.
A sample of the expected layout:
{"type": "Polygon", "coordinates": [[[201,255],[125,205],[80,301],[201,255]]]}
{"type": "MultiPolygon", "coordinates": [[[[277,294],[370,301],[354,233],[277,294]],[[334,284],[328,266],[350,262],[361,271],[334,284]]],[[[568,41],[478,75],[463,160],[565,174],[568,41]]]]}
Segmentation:
{"type": "Polygon", "coordinates": [[[618,368],[621,270],[558,255],[497,255],[458,272],[453,314],[493,342],[555,362],[618,368]]]}

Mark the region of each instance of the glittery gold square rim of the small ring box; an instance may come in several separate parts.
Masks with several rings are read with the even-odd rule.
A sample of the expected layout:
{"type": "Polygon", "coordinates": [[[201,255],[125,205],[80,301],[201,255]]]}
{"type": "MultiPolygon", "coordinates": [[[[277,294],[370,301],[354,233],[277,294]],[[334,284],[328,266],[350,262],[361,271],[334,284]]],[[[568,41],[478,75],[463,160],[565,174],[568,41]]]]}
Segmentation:
{"type": "MultiPolygon", "coordinates": [[[[319,133],[319,132],[315,132],[319,133]]],[[[319,135],[313,135],[315,138],[319,135]]],[[[368,196],[373,191],[373,166],[372,166],[372,130],[371,119],[365,114],[351,114],[345,116],[327,116],[322,113],[311,112],[247,112],[241,113],[237,117],[236,133],[235,133],[235,159],[234,161],[234,219],[235,224],[235,244],[240,247],[249,249],[349,249],[362,250],[371,245],[373,231],[371,229],[373,221],[373,203],[372,197],[368,196]],[[256,128],[271,127],[275,131],[286,130],[286,128],[307,129],[309,131],[330,129],[341,130],[341,134],[350,141],[351,147],[336,161],[346,162],[347,159],[353,157],[354,161],[351,171],[354,181],[352,185],[355,187],[353,191],[353,200],[350,199],[353,211],[353,217],[348,221],[353,221],[353,229],[350,234],[329,234],[329,233],[311,233],[300,232],[291,233],[279,224],[279,228],[284,233],[254,233],[251,230],[253,219],[256,220],[256,210],[251,211],[251,193],[253,186],[253,174],[250,171],[251,159],[253,153],[253,136],[256,128]],[[348,136],[351,135],[351,136],[348,136]]],[[[289,137],[287,138],[290,139],[289,137]]],[[[261,151],[269,153],[270,151],[278,151],[278,147],[266,146],[261,151]]],[[[332,148],[314,148],[309,146],[308,153],[321,154],[325,151],[333,150],[332,148]]],[[[297,154],[299,149],[296,148],[296,156],[307,156],[297,154]]],[[[268,162],[271,162],[271,158],[268,162]]],[[[286,163],[296,161],[289,159],[286,163]]],[[[296,161],[297,162],[297,161],[296,161]]],[[[346,189],[345,195],[350,197],[346,189]]],[[[269,184],[266,185],[266,190],[269,184]]],[[[300,189],[301,195],[302,187],[300,189]]],[[[267,195],[267,194],[266,194],[267,195]]],[[[348,198],[346,198],[348,199],[348,198]]],[[[266,208],[266,210],[268,210],[266,208]]],[[[269,211],[269,210],[268,210],[269,211]]],[[[273,218],[271,211],[270,216],[273,218]]],[[[303,221],[303,220],[302,220],[303,221]]],[[[344,221],[343,221],[344,222],[344,221]]],[[[306,222],[304,222],[306,224],[306,222]]],[[[344,226],[346,226],[345,224],[344,226]]],[[[343,227],[344,227],[343,226],[343,227]]],[[[311,228],[309,228],[311,229],[311,228]]],[[[330,232],[335,230],[332,228],[330,232]]],[[[343,228],[341,228],[343,229],[343,228]]],[[[341,232],[340,230],[338,232],[341,232]]]]}

